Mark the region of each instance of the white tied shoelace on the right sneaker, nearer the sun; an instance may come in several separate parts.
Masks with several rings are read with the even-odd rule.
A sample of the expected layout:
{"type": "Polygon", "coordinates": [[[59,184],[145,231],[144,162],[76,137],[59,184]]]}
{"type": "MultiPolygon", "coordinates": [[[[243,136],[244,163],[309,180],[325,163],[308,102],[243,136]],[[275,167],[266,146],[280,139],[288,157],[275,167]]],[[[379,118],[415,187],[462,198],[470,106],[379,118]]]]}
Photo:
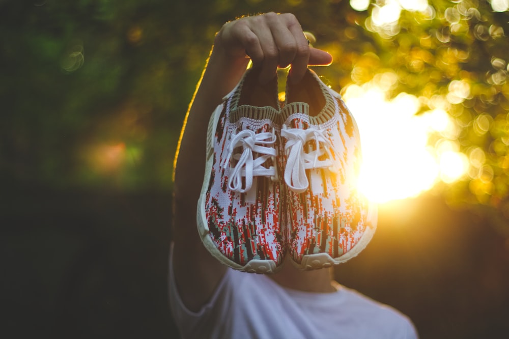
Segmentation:
{"type": "Polygon", "coordinates": [[[285,167],[285,182],[294,192],[302,193],[309,186],[305,170],[311,168],[329,167],[331,171],[335,171],[332,161],[332,143],[325,136],[325,131],[310,126],[307,129],[287,128],[281,129],[281,136],[287,139],[285,152],[288,156],[285,167]],[[306,153],[304,145],[308,142],[315,141],[315,150],[306,153]],[[318,158],[327,154],[327,158],[319,160],[318,158]]]}

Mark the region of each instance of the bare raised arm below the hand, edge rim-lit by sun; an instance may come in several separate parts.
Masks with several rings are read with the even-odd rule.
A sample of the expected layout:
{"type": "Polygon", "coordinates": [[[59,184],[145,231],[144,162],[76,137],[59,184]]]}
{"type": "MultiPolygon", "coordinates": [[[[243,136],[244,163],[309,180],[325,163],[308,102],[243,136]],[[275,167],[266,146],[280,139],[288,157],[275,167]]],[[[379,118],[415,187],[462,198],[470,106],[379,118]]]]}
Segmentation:
{"type": "Polygon", "coordinates": [[[174,167],[174,267],[182,300],[192,310],[200,309],[226,269],[202,245],[196,227],[209,118],[222,98],[236,86],[247,63],[245,56],[232,58],[225,55],[220,44],[214,44],[179,140],[174,167]]]}

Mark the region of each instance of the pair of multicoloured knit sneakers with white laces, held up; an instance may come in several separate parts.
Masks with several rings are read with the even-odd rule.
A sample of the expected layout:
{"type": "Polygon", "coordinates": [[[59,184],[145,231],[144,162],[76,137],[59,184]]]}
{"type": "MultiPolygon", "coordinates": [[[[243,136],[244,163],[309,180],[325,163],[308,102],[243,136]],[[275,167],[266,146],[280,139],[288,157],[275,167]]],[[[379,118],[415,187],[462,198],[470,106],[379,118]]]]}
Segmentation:
{"type": "Polygon", "coordinates": [[[377,210],[357,192],[355,121],[311,70],[266,85],[248,69],[213,112],[197,226],[209,252],[241,271],[270,273],[287,255],[300,269],[330,267],[371,240],[377,210]]]}

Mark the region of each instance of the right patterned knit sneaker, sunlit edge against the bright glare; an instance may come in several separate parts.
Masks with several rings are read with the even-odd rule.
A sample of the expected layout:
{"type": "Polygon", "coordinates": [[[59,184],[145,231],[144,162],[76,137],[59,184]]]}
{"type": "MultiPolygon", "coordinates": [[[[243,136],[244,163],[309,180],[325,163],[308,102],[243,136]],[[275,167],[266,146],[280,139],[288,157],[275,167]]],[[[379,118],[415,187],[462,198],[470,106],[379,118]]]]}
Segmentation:
{"type": "Polygon", "coordinates": [[[361,164],[357,125],[341,99],[308,70],[287,83],[281,109],[288,246],[301,269],[340,264],[369,243],[376,205],[357,191],[361,164]]]}

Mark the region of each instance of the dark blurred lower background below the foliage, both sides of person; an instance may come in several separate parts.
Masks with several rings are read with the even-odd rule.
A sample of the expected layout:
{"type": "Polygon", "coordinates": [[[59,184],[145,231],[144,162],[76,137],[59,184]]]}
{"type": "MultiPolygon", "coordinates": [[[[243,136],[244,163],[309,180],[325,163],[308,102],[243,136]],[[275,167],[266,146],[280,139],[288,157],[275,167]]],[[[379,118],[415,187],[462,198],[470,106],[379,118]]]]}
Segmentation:
{"type": "MultiPolygon", "coordinates": [[[[2,206],[5,337],[177,337],[169,192],[30,187],[2,206]]],[[[407,314],[422,338],[504,338],[508,247],[482,216],[421,197],[384,205],[336,278],[407,314]]]]}

